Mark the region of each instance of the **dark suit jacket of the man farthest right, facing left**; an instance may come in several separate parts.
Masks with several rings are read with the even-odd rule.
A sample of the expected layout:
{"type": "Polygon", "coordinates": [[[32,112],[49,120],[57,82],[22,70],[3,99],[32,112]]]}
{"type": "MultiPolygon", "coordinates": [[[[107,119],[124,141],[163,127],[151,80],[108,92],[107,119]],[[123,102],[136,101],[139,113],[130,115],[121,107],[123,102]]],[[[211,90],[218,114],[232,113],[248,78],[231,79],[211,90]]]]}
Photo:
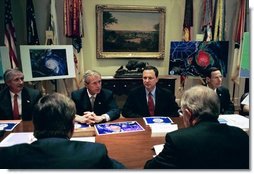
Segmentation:
{"type": "Polygon", "coordinates": [[[229,90],[223,86],[217,88],[216,93],[220,98],[220,113],[221,114],[234,114],[234,104],[230,100],[229,90]]]}

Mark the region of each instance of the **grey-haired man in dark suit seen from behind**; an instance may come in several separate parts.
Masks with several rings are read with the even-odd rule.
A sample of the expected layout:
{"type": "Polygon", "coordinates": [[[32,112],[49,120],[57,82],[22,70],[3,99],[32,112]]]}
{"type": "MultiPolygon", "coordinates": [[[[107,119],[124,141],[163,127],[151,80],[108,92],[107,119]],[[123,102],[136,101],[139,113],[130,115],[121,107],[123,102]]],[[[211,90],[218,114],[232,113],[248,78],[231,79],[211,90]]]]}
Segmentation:
{"type": "Polygon", "coordinates": [[[194,86],[181,99],[186,128],[167,133],[163,150],[146,169],[248,169],[249,136],[220,124],[219,98],[206,86],[194,86]]]}

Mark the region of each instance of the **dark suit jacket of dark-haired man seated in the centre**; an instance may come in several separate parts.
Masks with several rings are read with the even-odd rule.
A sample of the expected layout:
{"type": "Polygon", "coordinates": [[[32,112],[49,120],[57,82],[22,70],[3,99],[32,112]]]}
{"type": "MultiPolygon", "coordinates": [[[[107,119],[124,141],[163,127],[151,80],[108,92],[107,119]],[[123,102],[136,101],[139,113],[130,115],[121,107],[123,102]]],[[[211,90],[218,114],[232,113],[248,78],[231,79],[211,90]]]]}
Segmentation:
{"type": "MultiPolygon", "coordinates": [[[[155,91],[155,116],[178,116],[178,105],[174,94],[166,89],[156,87],[155,91]]],[[[149,116],[145,87],[133,89],[123,106],[124,117],[146,117],[149,116]]]]}

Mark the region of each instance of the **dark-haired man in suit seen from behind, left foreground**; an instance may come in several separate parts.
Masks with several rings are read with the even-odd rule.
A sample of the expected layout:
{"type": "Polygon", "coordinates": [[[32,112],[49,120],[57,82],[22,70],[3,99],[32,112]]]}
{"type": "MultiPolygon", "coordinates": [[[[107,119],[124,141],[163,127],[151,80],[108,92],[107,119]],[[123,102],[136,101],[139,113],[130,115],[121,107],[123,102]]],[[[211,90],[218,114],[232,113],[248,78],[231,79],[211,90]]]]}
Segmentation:
{"type": "Polygon", "coordinates": [[[33,111],[31,144],[0,148],[5,169],[113,169],[124,166],[110,159],[104,144],[71,141],[76,108],[63,94],[42,97],[33,111]]]}

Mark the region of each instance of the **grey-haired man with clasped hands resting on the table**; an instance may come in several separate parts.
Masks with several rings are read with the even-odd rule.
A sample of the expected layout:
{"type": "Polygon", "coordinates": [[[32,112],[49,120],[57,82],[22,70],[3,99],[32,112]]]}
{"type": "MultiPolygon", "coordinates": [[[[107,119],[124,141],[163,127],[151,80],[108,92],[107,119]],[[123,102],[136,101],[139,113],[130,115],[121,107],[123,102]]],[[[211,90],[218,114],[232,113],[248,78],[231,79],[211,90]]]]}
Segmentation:
{"type": "Polygon", "coordinates": [[[101,74],[95,70],[88,70],[84,75],[85,87],[71,93],[76,104],[75,121],[95,124],[115,120],[120,117],[113,93],[102,89],[101,74]]]}

